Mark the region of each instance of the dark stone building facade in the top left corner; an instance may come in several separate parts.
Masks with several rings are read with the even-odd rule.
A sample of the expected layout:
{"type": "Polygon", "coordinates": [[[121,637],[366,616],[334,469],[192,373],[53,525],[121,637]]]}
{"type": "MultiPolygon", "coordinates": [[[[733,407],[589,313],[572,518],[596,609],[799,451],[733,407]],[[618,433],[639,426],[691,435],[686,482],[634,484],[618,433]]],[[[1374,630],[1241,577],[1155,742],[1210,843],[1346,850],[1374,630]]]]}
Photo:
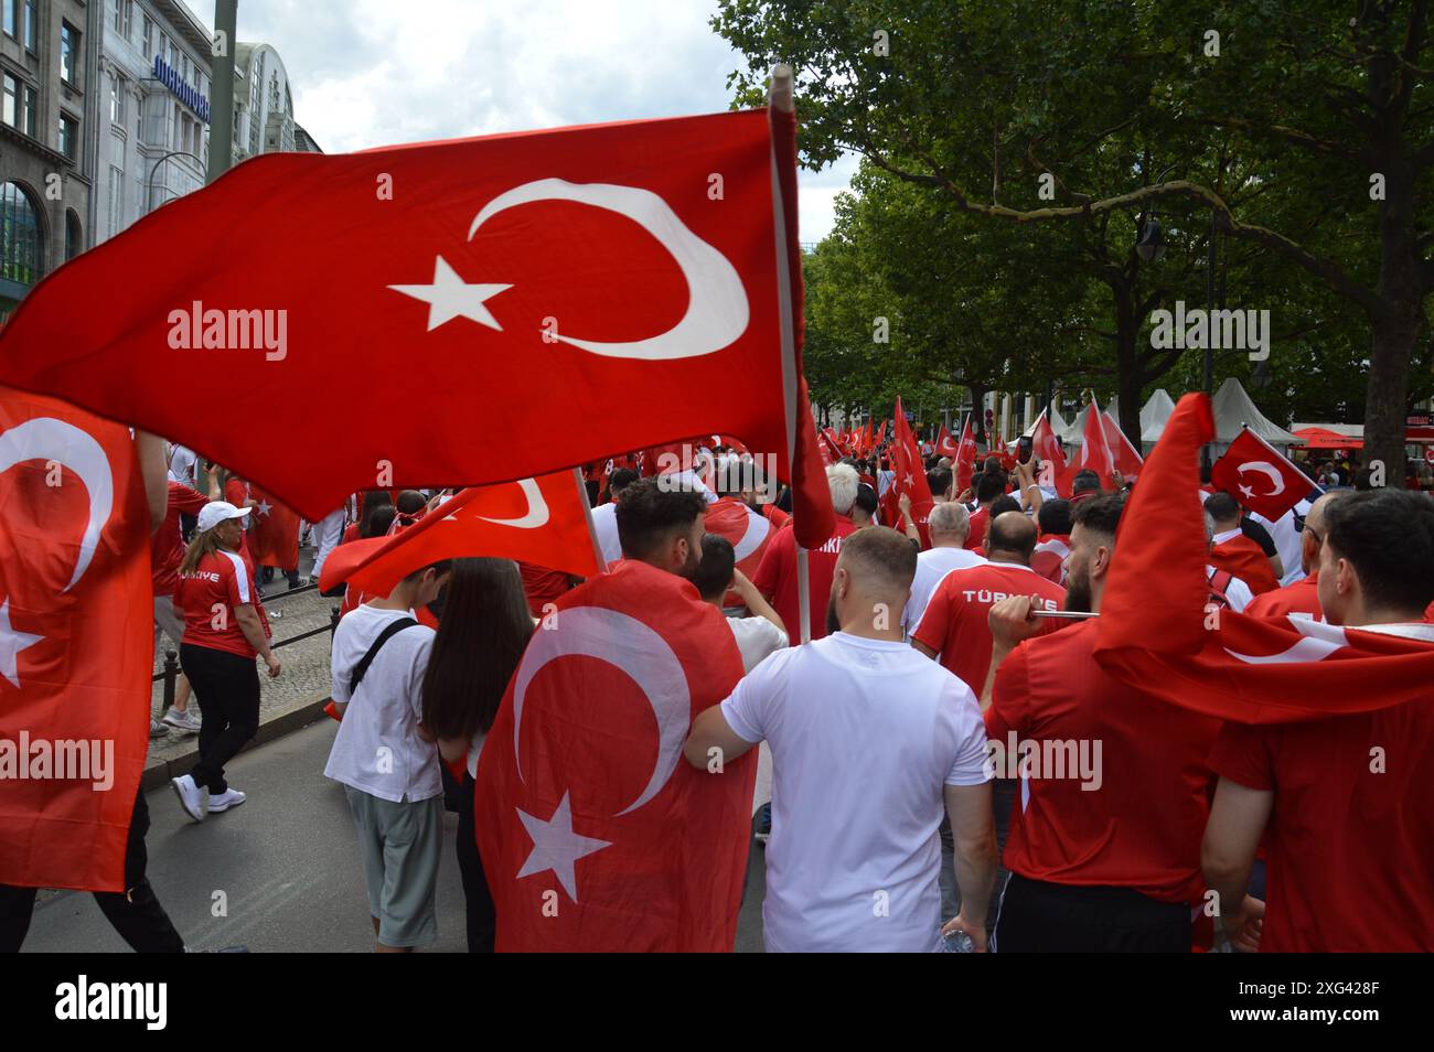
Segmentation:
{"type": "Polygon", "coordinates": [[[0,0],[0,321],[93,244],[99,4],[0,0]]]}

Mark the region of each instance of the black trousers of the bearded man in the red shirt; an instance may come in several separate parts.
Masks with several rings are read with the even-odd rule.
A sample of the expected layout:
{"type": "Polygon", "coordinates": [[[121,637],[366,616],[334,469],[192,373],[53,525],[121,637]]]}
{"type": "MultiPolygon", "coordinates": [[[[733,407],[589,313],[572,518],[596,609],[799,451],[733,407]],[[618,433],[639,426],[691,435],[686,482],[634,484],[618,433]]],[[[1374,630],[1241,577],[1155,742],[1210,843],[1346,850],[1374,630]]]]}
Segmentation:
{"type": "Polygon", "coordinates": [[[1189,953],[1190,907],[1130,887],[1077,887],[1012,873],[997,953],[1189,953]]]}

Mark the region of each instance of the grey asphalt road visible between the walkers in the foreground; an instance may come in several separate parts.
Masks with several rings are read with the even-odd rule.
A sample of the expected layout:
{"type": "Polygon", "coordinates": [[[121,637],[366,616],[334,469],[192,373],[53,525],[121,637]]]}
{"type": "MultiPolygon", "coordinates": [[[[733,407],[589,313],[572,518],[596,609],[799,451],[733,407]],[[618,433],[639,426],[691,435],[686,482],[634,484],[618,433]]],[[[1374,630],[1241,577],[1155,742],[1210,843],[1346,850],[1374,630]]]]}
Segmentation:
{"type": "MultiPolygon", "coordinates": [[[[204,823],[179,810],[168,785],[149,794],[149,881],[191,947],[373,950],[353,818],[343,787],[323,774],[336,730],[324,719],[239,754],[227,775],[248,800],[204,823]]],[[[456,827],[456,816],[445,816],[439,937],[432,952],[466,950],[456,827]]],[[[740,952],[761,950],[761,848],[753,847],[737,929],[740,952]]],[[[24,949],[129,950],[82,891],[42,894],[24,949]]]]}

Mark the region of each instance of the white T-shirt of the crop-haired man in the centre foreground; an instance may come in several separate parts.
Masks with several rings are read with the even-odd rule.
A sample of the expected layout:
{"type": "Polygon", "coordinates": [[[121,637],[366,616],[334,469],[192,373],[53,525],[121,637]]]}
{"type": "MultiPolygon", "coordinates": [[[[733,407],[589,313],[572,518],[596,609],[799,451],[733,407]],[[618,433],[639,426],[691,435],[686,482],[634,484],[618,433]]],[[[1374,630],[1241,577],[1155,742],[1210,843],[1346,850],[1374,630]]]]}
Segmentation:
{"type": "Polygon", "coordinates": [[[988,781],[971,689],[903,642],[836,632],[773,654],[721,708],[771,745],[767,950],[934,949],[942,788],[988,781]]]}

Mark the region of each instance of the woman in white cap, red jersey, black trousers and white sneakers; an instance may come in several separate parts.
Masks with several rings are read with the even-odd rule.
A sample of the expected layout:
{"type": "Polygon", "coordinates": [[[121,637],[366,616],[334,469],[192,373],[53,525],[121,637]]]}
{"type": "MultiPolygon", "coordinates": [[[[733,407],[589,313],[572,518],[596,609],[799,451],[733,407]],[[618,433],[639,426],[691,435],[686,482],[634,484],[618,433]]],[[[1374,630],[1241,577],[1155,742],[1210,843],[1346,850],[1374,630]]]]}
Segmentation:
{"type": "Polygon", "coordinates": [[[195,821],[244,803],[244,794],[225,783],[224,765],[258,731],[260,676],[254,656],[264,658],[271,676],[280,669],[268,645],[254,568],[239,550],[248,513],[224,500],[205,505],[179,565],[175,606],[185,616],[179,665],[204,709],[204,727],[199,762],[171,783],[179,805],[195,821]]]}

